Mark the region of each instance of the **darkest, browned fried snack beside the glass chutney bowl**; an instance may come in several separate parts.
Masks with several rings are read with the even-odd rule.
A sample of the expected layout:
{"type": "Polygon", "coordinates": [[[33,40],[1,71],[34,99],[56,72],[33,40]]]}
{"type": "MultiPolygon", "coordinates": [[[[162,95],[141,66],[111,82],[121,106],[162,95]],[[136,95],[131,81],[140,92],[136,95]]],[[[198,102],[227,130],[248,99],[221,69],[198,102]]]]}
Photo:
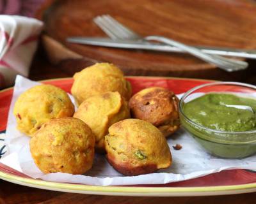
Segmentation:
{"type": "Polygon", "coordinates": [[[180,127],[178,103],[172,91],[150,87],[134,94],[129,106],[132,117],[152,123],[164,136],[169,136],[180,127]]]}

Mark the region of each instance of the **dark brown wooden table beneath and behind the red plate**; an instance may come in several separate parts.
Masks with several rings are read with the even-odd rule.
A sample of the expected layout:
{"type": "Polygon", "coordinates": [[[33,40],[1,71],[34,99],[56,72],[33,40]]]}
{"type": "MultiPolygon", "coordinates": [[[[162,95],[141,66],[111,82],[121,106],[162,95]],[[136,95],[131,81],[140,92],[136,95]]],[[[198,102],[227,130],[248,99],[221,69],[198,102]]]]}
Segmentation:
{"type": "MultiPolygon", "coordinates": [[[[256,63],[250,62],[250,75],[244,82],[256,84],[256,63]]],[[[29,78],[32,80],[44,80],[47,78],[72,77],[61,70],[58,66],[49,64],[44,51],[39,50],[31,66],[29,78]]],[[[126,197],[126,196],[95,196],[86,194],[61,193],[46,191],[31,187],[19,186],[10,182],[0,180],[0,204],[2,203],[255,203],[256,193],[236,194],[228,196],[211,197],[173,197],[173,198],[151,198],[151,197],[126,197]]]]}

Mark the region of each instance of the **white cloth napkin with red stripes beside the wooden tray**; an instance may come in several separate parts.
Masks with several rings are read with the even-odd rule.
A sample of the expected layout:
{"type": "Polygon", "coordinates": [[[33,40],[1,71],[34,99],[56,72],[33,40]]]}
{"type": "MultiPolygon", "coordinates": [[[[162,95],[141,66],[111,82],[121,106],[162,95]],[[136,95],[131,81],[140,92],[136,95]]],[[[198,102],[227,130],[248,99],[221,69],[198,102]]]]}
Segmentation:
{"type": "Polygon", "coordinates": [[[0,15],[0,89],[17,74],[28,77],[43,23],[35,18],[0,15]]]}

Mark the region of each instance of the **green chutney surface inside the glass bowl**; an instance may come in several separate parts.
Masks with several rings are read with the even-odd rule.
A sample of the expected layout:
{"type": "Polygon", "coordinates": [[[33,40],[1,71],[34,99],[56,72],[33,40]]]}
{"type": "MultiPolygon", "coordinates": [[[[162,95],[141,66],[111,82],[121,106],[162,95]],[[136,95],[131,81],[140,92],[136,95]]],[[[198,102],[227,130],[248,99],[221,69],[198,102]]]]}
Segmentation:
{"type": "Polygon", "coordinates": [[[230,132],[256,129],[256,100],[252,98],[212,92],[185,103],[182,110],[190,120],[206,128],[230,132]],[[226,105],[250,106],[253,112],[226,105]]]}

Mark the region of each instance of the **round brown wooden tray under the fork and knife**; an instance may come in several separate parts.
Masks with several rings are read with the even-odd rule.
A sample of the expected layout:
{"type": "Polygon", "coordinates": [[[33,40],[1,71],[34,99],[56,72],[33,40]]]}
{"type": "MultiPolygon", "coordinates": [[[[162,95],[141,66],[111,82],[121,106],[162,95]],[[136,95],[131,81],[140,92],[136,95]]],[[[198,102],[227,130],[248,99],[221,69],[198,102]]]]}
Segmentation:
{"type": "Polygon", "coordinates": [[[256,4],[249,0],[48,0],[36,17],[45,22],[42,41],[51,62],[71,74],[97,61],[113,62],[126,75],[241,80],[248,71],[227,73],[187,54],[65,41],[68,36],[106,36],[92,20],[106,13],[142,36],[158,34],[189,45],[256,48],[256,4]]]}

